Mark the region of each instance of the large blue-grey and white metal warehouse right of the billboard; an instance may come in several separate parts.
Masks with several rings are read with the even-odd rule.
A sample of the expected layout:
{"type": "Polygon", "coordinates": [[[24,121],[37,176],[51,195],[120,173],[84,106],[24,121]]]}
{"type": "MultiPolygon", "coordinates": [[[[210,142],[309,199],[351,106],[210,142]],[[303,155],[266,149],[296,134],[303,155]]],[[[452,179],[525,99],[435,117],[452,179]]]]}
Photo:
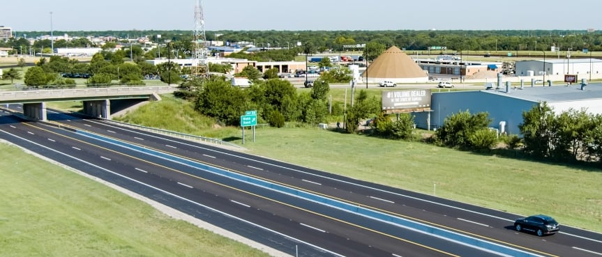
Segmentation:
{"type": "MultiPolygon", "coordinates": [[[[547,102],[556,114],[571,108],[585,108],[588,113],[602,114],[602,84],[432,93],[430,128],[441,127],[446,117],[459,111],[468,110],[471,114],[485,111],[492,119],[490,127],[497,128],[499,132],[520,134],[518,125],[522,123],[522,112],[532,109],[539,102],[547,102]]],[[[416,126],[426,129],[429,124],[428,112],[413,114],[416,126]]]]}

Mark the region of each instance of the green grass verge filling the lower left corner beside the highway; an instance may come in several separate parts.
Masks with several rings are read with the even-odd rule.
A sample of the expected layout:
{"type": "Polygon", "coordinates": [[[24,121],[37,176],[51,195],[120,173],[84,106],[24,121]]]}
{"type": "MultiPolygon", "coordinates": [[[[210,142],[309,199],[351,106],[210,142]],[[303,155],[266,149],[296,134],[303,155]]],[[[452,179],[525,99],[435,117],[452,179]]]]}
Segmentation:
{"type": "Polygon", "coordinates": [[[0,255],[268,256],[0,143],[0,255]]]}

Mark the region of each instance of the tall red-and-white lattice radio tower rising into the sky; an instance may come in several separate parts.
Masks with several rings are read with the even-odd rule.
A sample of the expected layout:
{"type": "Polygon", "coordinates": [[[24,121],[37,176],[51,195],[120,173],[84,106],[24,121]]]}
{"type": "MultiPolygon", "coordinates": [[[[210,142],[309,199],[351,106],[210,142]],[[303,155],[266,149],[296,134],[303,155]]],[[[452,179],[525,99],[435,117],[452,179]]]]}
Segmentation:
{"type": "Polygon", "coordinates": [[[203,15],[203,1],[197,0],[195,6],[195,31],[193,31],[193,67],[192,73],[197,77],[206,77],[209,72],[207,63],[207,45],[205,37],[205,17],[203,15]],[[194,65],[196,63],[196,65],[194,65]]]}

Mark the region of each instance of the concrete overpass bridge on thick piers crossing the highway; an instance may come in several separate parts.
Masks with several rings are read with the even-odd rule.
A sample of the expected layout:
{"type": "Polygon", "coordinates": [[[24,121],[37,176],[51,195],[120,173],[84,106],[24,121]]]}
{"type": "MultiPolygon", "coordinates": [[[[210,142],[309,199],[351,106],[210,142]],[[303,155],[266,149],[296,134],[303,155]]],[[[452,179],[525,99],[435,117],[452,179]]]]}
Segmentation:
{"type": "Polygon", "coordinates": [[[0,104],[23,104],[25,116],[47,120],[46,102],[82,101],[85,114],[111,118],[112,100],[160,100],[160,94],[176,90],[176,86],[124,86],[0,91],[0,104]]]}

